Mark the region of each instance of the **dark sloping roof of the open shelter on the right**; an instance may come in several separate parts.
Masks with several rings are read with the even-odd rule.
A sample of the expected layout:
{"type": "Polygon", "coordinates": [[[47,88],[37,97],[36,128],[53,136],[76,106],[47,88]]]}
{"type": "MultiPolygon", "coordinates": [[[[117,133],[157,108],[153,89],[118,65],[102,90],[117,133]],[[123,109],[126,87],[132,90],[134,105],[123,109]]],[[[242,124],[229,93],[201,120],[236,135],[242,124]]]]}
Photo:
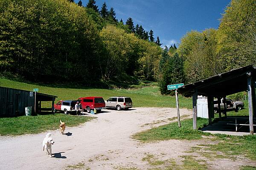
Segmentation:
{"type": "Polygon", "coordinates": [[[247,91],[247,78],[249,75],[254,80],[256,79],[256,67],[253,67],[253,65],[247,65],[209,77],[208,79],[190,83],[178,88],[178,91],[184,96],[192,96],[195,89],[197,89],[198,95],[202,96],[227,96],[241,91],[247,91]]]}

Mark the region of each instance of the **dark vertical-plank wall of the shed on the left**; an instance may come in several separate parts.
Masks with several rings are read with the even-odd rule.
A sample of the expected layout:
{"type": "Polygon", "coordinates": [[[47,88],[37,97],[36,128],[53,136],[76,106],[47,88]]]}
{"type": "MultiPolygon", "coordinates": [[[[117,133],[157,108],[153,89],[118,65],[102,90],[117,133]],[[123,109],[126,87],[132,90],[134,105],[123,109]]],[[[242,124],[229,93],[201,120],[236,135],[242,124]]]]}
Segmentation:
{"type": "Polygon", "coordinates": [[[29,91],[0,87],[0,117],[25,115],[25,107],[32,106],[34,113],[35,94],[30,97],[29,91]]]}

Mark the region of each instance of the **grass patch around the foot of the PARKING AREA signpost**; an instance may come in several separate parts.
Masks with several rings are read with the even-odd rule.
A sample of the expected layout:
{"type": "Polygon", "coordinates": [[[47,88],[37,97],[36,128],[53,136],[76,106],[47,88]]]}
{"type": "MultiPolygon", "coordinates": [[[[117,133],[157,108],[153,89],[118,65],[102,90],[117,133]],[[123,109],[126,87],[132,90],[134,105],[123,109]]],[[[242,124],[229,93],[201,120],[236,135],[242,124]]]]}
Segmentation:
{"type": "MultiPolygon", "coordinates": [[[[172,122],[167,125],[152,128],[140,133],[136,133],[132,136],[133,139],[137,139],[143,142],[154,142],[158,140],[193,140],[201,139],[202,135],[209,135],[200,130],[193,130],[192,119],[186,119],[180,122],[181,127],[177,126],[177,122],[172,122]]],[[[208,124],[208,119],[198,118],[198,128],[204,127],[208,124]]]]}

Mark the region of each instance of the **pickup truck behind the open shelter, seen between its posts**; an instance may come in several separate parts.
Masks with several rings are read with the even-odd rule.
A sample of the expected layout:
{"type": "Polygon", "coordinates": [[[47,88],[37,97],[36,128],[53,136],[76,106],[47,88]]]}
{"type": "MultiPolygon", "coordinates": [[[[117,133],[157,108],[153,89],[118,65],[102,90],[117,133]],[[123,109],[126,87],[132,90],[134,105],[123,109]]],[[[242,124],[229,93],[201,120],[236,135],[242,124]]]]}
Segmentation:
{"type": "MultiPolygon", "coordinates": [[[[226,98],[226,108],[227,110],[235,109],[236,111],[244,108],[244,102],[241,101],[233,101],[230,98],[226,98]]],[[[221,110],[224,110],[224,99],[221,99],[221,110]]],[[[214,113],[218,112],[218,100],[214,100],[214,113]]]]}

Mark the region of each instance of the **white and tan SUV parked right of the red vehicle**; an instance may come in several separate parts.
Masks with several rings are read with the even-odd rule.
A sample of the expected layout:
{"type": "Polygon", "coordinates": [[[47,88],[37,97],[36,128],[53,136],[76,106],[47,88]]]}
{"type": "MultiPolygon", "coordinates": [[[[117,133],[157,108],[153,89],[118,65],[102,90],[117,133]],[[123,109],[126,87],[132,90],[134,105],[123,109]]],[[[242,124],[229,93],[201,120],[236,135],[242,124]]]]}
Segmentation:
{"type": "Polygon", "coordinates": [[[132,108],[132,101],[130,97],[110,97],[105,101],[106,108],[116,108],[116,110],[120,111],[121,109],[127,110],[128,108],[132,108]]]}

